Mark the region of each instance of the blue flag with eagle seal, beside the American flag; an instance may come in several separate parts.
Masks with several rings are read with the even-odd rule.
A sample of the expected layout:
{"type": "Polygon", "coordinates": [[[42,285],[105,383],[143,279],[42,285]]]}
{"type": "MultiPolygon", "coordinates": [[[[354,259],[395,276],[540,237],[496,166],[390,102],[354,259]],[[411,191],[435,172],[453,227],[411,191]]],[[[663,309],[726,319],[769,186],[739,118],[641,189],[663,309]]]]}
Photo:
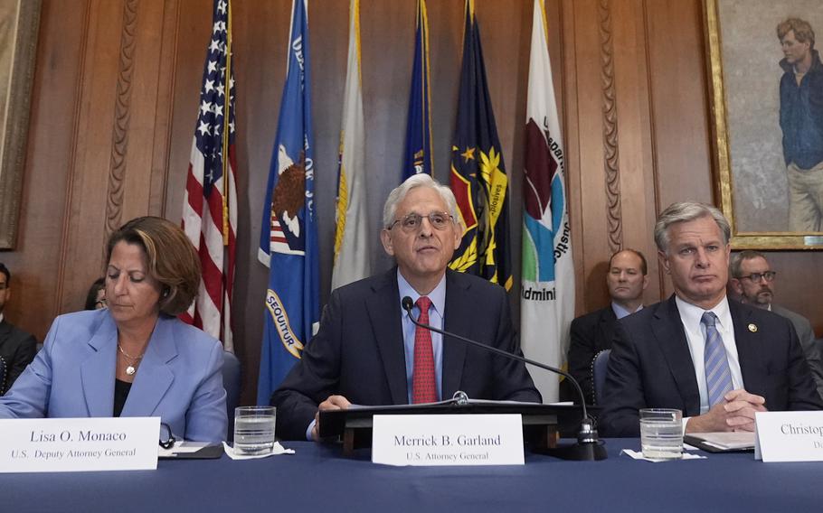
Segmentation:
{"type": "Polygon", "coordinates": [[[263,203],[260,262],[270,267],[257,400],[271,392],[317,331],[319,266],[307,0],[294,0],[286,84],[263,203]]]}

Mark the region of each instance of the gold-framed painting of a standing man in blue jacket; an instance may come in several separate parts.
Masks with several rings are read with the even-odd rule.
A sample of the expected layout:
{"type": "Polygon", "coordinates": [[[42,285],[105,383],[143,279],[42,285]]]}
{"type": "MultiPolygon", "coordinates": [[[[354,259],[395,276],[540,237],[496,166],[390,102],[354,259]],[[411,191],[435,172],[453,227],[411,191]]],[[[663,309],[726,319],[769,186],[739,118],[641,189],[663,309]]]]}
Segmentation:
{"type": "Polygon", "coordinates": [[[704,7],[714,168],[732,245],[823,249],[820,0],[704,7]]]}

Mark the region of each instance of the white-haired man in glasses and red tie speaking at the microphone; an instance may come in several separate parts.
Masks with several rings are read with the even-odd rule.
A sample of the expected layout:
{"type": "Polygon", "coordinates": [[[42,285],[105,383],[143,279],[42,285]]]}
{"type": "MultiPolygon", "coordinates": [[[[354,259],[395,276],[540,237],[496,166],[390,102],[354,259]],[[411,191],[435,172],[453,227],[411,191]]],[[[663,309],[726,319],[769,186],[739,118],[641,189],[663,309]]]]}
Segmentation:
{"type": "Polygon", "coordinates": [[[336,289],[317,335],[271,397],[278,435],[319,438],[321,409],[471,398],[540,402],[525,366],[416,328],[403,312],[409,296],[421,322],[520,354],[506,291],[447,270],[459,247],[457,206],[427,174],[394,189],[383,209],[381,240],[397,267],[336,289]]]}

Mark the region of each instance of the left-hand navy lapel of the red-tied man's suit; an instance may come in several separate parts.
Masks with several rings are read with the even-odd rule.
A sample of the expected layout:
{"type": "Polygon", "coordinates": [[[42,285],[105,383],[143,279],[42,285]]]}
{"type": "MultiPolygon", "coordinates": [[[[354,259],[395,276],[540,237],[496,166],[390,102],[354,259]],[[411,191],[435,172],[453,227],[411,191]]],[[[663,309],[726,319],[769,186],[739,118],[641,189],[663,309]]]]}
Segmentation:
{"type": "Polygon", "coordinates": [[[395,405],[409,402],[406,385],[406,356],[403,349],[402,319],[399,314],[400,292],[397,288],[397,267],[393,267],[373,286],[374,294],[366,299],[366,311],[372,324],[374,340],[383,370],[389,383],[389,392],[395,405]]]}

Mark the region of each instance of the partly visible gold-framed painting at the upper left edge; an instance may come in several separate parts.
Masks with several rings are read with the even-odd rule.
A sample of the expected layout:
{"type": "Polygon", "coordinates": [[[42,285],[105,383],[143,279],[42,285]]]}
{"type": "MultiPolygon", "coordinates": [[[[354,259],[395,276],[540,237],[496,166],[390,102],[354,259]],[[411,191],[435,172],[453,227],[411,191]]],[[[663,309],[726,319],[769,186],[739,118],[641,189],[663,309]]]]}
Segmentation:
{"type": "Polygon", "coordinates": [[[40,0],[0,0],[0,249],[14,249],[40,0]]]}

